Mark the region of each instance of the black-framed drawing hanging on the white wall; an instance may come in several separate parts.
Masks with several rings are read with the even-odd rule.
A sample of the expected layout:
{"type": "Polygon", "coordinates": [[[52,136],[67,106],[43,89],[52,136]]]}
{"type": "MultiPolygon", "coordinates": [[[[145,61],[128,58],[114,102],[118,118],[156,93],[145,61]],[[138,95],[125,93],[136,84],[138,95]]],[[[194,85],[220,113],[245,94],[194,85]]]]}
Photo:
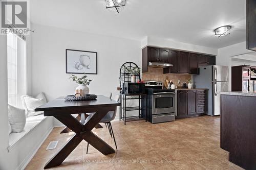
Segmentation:
{"type": "Polygon", "coordinates": [[[66,49],[67,74],[98,74],[97,52],[66,49]]]}

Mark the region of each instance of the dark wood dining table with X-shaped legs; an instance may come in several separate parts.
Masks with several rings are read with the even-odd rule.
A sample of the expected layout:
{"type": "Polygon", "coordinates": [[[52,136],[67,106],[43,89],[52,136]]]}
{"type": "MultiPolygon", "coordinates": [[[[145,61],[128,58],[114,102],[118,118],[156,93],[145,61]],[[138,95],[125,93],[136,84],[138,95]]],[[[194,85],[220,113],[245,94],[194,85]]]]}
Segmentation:
{"type": "Polygon", "coordinates": [[[44,116],[53,116],[62,124],[71,129],[75,134],[65,145],[46,163],[45,169],[59,166],[82,141],[87,141],[92,147],[104,155],[113,154],[115,150],[92,130],[100,120],[109,112],[116,110],[120,103],[104,95],[98,95],[97,99],[89,101],[66,101],[65,97],[59,97],[35,111],[44,111],[44,116]],[[92,113],[88,122],[81,123],[72,114],[92,113]]]}

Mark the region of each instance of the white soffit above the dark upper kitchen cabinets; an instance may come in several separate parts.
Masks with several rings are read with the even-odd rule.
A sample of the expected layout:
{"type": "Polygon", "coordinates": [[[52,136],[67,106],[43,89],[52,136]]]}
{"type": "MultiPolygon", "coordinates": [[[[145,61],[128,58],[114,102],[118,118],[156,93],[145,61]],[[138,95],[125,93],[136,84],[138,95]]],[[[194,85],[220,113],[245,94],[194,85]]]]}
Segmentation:
{"type": "Polygon", "coordinates": [[[217,48],[210,48],[210,47],[201,46],[201,45],[188,44],[184,42],[178,42],[178,41],[173,41],[169,39],[162,39],[162,38],[149,37],[149,36],[145,37],[141,41],[141,47],[144,47],[146,45],[167,47],[167,48],[173,48],[177,50],[203,53],[203,54],[211,54],[211,55],[218,54],[217,48]]]}

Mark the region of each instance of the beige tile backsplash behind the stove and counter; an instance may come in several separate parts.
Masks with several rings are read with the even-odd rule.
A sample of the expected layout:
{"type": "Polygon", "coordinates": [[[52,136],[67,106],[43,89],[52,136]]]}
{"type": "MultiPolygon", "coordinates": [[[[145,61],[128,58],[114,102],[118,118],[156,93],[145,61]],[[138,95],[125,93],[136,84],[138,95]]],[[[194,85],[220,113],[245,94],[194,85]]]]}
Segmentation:
{"type": "Polygon", "coordinates": [[[181,74],[163,74],[163,68],[150,68],[148,67],[147,72],[142,73],[142,80],[155,80],[164,82],[166,78],[172,80],[175,86],[182,86],[184,82],[191,78],[191,75],[181,75],[181,74]],[[178,84],[180,80],[180,84],[178,84]]]}

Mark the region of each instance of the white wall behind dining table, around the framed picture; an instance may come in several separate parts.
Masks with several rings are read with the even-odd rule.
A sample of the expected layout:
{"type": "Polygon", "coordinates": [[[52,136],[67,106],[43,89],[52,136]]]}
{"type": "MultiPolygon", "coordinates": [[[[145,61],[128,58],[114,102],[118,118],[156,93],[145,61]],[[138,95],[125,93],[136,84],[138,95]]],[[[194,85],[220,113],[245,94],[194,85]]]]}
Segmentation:
{"type": "Polygon", "coordinates": [[[77,85],[66,74],[66,48],[98,53],[98,74],[88,75],[93,80],[91,94],[118,94],[121,65],[132,61],[141,66],[140,41],[37,24],[32,27],[32,95],[42,91],[53,100],[74,94],[77,85]]]}

